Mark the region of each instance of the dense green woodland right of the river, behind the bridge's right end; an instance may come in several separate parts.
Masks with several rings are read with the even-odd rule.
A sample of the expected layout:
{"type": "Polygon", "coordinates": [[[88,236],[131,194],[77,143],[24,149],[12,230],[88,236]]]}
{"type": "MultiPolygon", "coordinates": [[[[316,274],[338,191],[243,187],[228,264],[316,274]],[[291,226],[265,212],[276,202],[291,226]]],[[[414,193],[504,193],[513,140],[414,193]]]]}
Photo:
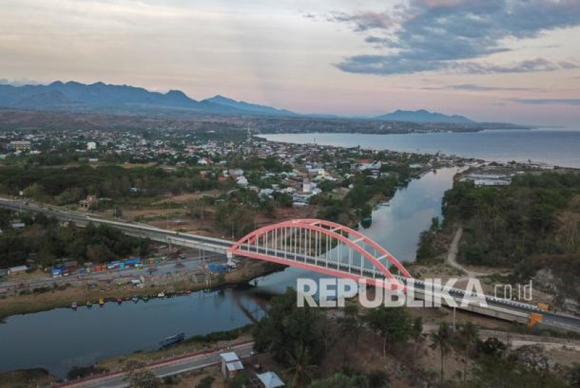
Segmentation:
{"type": "Polygon", "coordinates": [[[440,253],[437,234],[464,228],[458,260],[467,264],[511,267],[521,281],[540,269],[561,279],[560,291],[574,291],[580,277],[580,174],[522,174],[502,187],[456,182],[444,195],[444,223],[423,232],[417,258],[440,253]]]}

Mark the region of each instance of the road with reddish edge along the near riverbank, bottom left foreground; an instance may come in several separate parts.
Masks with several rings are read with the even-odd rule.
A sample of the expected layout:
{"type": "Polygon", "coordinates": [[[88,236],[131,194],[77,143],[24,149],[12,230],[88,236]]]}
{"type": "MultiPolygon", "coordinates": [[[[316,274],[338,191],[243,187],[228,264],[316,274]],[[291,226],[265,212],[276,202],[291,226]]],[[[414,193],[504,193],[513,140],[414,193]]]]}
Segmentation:
{"type": "MultiPolygon", "coordinates": [[[[218,364],[220,361],[219,354],[222,352],[235,352],[241,359],[247,358],[252,354],[254,347],[253,341],[247,341],[232,345],[231,348],[220,348],[217,350],[209,350],[204,352],[196,352],[191,355],[184,355],[167,359],[165,361],[158,361],[147,366],[155,375],[160,378],[166,376],[178,375],[180,373],[195,371],[196,369],[205,368],[218,364]]],[[[109,373],[107,375],[95,376],[94,378],[79,380],[75,382],[65,382],[55,387],[66,388],[121,388],[126,387],[125,373],[109,373]]]]}

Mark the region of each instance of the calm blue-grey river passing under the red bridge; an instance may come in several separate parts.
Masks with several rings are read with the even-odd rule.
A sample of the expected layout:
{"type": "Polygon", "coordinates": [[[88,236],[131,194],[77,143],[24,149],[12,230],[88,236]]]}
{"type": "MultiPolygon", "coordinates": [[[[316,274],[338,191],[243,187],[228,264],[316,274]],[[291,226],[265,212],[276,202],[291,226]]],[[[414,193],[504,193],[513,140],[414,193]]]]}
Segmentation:
{"type": "MultiPolygon", "coordinates": [[[[455,172],[454,168],[444,168],[411,181],[397,191],[389,207],[373,212],[372,225],[361,232],[399,260],[414,260],[419,233],[430,225],[431,218],[440,215],[442,195],[451,187],[455,172]]],[[[288,268],[257,279],[253,290],[194,292],[147,303],[13,315],[0,323],[0,371],[45,368],[64,378],[73,366],[151,350],[161,339],[182,331],[189,337],[241,327],[251,322],[247,311],[257,318],[263,315],[255,294],[284,292],[300,276],[319,277],[288,268]]]]}

